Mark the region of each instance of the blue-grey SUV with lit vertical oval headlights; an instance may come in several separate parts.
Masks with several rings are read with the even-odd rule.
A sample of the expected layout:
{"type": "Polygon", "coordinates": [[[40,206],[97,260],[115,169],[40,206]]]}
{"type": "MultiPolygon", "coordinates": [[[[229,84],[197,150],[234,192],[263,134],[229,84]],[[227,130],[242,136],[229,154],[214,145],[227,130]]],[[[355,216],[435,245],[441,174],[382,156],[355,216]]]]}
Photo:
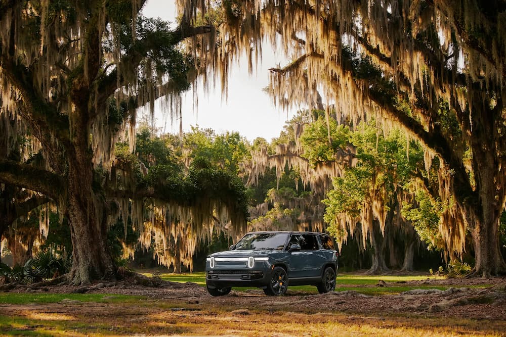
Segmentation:
{"type": "Polygon", "coordinates": [[[338,253],[330,236],[315,232],[262,231],[244,235],[229,251],[205,262],[205,283],[213,296],[233,286],[258,286],[266,295],[283,295],[289,285],[316,285],[333,291],[338,253]]]}

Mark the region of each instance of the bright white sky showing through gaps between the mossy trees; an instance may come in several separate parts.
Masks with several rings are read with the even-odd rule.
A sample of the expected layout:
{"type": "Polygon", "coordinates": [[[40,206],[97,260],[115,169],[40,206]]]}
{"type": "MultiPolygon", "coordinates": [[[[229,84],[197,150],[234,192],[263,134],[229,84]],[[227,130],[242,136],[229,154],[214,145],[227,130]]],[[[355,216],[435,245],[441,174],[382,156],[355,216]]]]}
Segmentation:
{"type": "MultiPolygon", "coordinates": [[[[146,17],[160,17],[166,21],[175,21],[176,9],[174,1],[148,0],[143,14],[146,17]]],[[[220,85],[217,89],[210,89],[205,93],[202,85],[198,89],[198,110],[193,109],[193,91],[190,89],[183,96],[183,130],[190,130],[191,126],[212,128],[217,133],[238,131],[248,140],[263,137],[270,141],[277,137],[285,121],[290,119],[295,110],[282,111],[271,102],[269,95],[262,91],[269,83],[268,69],[278,63],[283,63],[281,54],[263,48],[263,62],[258,66],[257,73],[248,74],[247,61],[240,61],[229,72],[228,101],[222,101],[220,85]]],[[[211,86],[212,87],[212,86],[211,86]]],[[[167,113],[161,113],[161,105],[156,105],[156,125],[162,132],[179,132],[179,120],[171,123],[167,113]]]]}

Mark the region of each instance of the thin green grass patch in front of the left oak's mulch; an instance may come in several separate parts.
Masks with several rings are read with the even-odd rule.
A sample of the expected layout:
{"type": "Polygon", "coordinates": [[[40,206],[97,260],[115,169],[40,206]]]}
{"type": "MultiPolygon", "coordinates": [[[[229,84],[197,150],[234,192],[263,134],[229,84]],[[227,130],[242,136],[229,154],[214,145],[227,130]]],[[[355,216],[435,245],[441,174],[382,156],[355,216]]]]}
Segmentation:
{"type": "Polygon", "coordinates": [[[0,293],[0,304],[29,304],[29,303],[59,303],[64,300],[79,302],[139,302],[144,296],[116,295],[116,294],[17,294],[0,293]]]}

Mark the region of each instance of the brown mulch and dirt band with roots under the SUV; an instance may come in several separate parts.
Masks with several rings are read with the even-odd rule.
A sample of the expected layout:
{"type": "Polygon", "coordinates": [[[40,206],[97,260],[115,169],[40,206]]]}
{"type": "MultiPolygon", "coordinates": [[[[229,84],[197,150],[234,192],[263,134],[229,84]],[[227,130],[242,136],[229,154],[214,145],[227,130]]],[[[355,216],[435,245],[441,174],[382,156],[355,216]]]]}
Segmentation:
{"type": "MultiPolygon", "coordinates": [[[[381,276],[378,276],[381,279],[381,276]]],[[[100,282],[87,286],[35,284],[0,291],[32,293],[88,293],[140,295],[150,299],[184,301],[216,307],[247,310],[289,309],[294,312],[344,312],[349,314],[434,315],[466,319],[506,321],[506,278],[427,279],[423,281],[387,283],[379,281],[373,287],[423,286],[399,295],[367,296],[355,291],[313,295],[288,290],[286,296],[268,297],[262,290],[232,292],[223,297],[210,296],[195,283],[176,283],[142,275],[117,282],[100,282]],[[491,285],[486,288],[473,287],[491,285]],[[450,286],[440,291],[429,286],[450,286]]],[[[364,286],[365,287],[365,286],[364,286]]]]}

